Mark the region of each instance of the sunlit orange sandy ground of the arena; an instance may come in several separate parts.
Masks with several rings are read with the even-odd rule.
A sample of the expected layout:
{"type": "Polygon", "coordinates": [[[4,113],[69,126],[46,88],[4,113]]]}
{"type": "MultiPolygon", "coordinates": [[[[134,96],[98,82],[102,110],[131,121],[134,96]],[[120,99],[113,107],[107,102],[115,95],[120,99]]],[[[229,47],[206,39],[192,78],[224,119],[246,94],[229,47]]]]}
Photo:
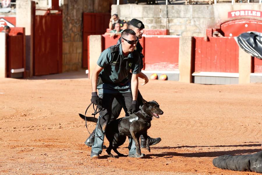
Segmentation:
{"type": "MultiPolygon", "coordinates": [[[[157,101],[164,111],[148,130],[162,141],[151,153],[142,148],[143,159],[110,158],[105,150],[91,159],[85,122],[78,116],[91,99],[91,81],[83,71],[0,79],[0,174],[257,174],[218,169],[212,160],[261,150],[261,89],[261,83],[139,85],[144,99],[157,101]]],[[[126,141],[119,152],[128,154],[127,146],[126,141]]]]}

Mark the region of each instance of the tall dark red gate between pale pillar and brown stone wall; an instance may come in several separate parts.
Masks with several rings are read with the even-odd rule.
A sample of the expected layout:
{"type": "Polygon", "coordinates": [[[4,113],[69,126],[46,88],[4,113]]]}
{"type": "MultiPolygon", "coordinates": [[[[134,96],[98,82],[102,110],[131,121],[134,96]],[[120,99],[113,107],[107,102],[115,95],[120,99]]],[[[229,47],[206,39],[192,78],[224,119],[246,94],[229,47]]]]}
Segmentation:
{"type": "Polygon", "coordinates": [[[33,31],[34,75],[62,72],[62,10],[36,9],[33,31]]]}

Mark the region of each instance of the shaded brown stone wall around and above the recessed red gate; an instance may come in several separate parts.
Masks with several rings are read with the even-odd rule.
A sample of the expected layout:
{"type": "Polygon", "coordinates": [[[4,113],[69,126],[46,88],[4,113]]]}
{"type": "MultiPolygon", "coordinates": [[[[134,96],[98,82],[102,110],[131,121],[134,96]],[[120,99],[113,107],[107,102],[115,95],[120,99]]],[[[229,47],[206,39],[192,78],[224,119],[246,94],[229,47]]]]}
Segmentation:
{"type": "Polygon", "coordinates": [[[63,71],[82,68],[82,13],[110,13],[108,0],[63,0],[63,71]]]}

